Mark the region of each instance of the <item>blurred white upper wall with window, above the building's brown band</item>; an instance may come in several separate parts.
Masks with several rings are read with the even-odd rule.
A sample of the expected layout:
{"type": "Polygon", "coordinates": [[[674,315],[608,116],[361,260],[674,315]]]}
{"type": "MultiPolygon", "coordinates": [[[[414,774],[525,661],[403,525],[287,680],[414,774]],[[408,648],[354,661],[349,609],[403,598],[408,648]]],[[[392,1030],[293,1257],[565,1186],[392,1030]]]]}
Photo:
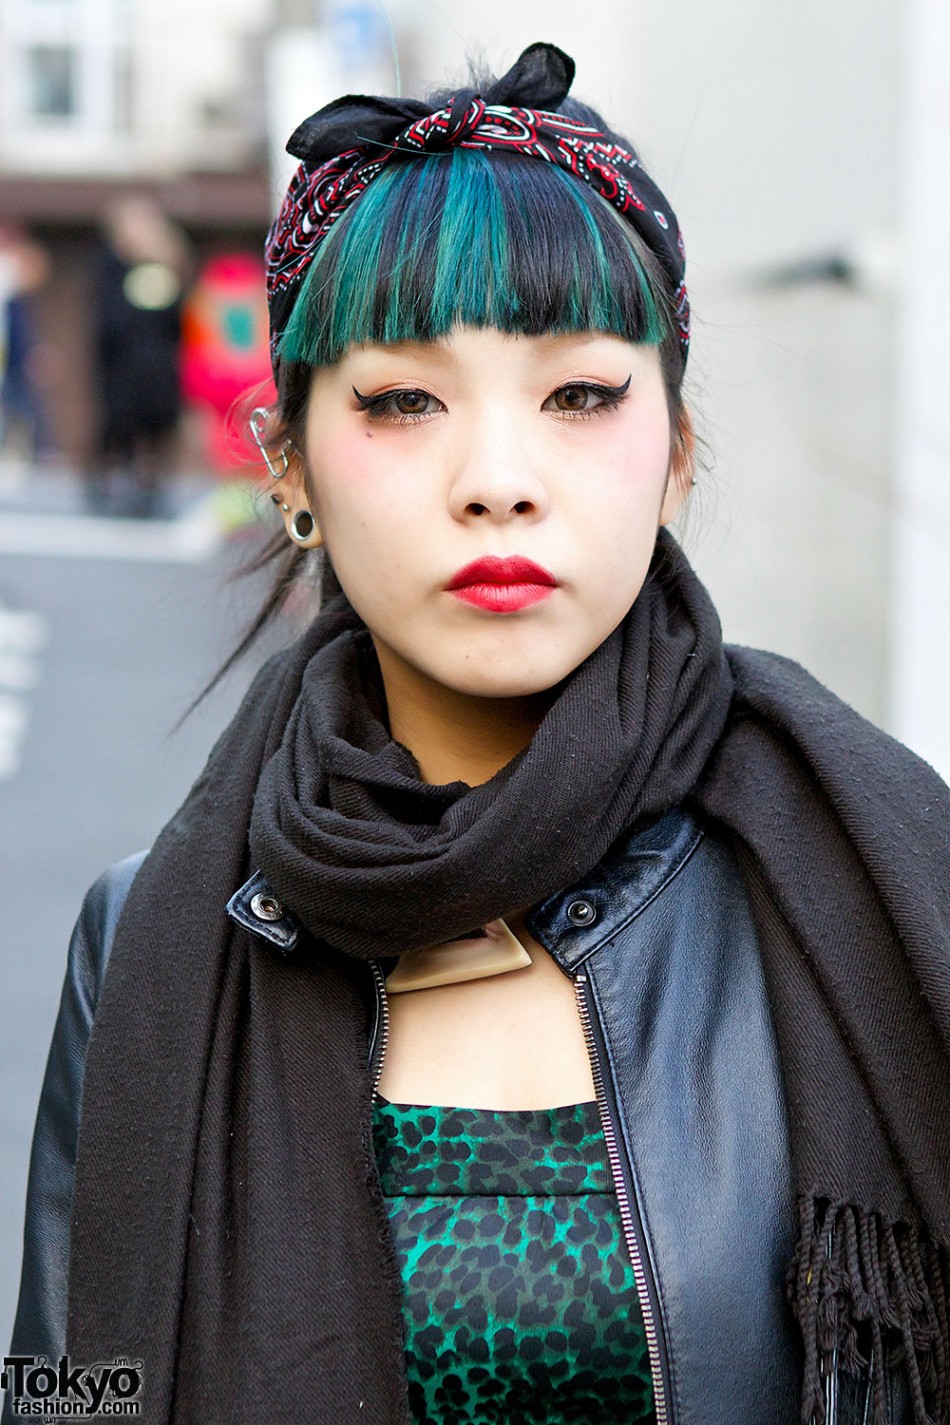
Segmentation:
{"type": "Polygon", "coordinates": [[[175,178],[259,160],[269,0],[4,0],[4,175],[175,178]]]}

